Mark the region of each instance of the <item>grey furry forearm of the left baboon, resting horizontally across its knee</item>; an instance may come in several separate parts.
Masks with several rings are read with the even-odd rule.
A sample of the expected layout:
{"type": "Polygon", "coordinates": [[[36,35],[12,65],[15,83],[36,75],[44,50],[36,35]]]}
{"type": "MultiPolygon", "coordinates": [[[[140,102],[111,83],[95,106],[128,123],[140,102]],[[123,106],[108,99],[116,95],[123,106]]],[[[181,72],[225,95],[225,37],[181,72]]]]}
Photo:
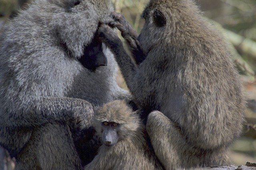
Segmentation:
{"type": "Polygon", "coordinates": [[[8,122],[12,126],[35,127],[53,121],[74,121],[74,124],[78,123],[78,127],[87,128],[91,125],[93,115],[92,105],[85,100],[54,97],[30,102],[19,112],[9,114],[8,122]]]}

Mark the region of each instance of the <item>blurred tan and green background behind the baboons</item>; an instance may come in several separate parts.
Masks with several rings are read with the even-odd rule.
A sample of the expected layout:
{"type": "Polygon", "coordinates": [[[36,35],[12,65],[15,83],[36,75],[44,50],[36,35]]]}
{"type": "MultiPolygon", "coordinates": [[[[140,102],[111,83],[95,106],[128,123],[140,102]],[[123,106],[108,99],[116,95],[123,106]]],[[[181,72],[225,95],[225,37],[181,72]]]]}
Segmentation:
{"type": "MultiPolygon", "coordinates": [[[[0,0],[0,27],[11,20],[31,0],[0,0]]],[[[147,0],[112,0],[116,12],[140,32],[144,21],[140,14],[147,0]]],[[[230,158],[236,165],[256,162],[256,0],[195,0],[203,15],[219,29],[230,44],[230,53],[242,75],[247,92],[247,123],[244,133],[230,148],[230,158]]],[[[0,32],[1,33],[1,32],[0,32]]],[[[122,76],[117,81],[126,88],[122,76]]],[[[13,166],[10,158],[6,160],[13,166]]]]}

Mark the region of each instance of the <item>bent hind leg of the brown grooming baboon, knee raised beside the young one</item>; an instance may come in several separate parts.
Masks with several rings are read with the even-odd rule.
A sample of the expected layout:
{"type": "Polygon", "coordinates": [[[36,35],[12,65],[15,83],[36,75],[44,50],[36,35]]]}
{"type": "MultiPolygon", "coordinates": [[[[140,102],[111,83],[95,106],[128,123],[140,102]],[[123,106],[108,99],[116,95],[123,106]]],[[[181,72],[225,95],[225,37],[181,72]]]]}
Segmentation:
{"type": "Polygon", "coordinates": [[[229,166],[226,149],[202,149],[182,133],[180,127],[160,111],[148,115],[146,129],[156,156],[166,169],[229,166]]]}

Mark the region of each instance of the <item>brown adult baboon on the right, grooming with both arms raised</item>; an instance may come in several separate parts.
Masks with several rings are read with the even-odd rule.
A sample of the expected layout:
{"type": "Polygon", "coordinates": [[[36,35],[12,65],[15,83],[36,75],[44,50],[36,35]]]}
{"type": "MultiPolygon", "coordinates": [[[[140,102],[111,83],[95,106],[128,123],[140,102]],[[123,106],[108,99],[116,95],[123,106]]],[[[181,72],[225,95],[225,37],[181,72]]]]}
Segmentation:
{"type": "Polygon", "coordinates": [[[99,35],[135,101],[151,112],[146,130],[160,162],[166,169],[230,165],[226,152],[241,134],[245,100],[223,36],[192,0],[150,0],[138,37],[121,14],[112,15],[109,25],[140,63],[109,25],[99,35]]]}

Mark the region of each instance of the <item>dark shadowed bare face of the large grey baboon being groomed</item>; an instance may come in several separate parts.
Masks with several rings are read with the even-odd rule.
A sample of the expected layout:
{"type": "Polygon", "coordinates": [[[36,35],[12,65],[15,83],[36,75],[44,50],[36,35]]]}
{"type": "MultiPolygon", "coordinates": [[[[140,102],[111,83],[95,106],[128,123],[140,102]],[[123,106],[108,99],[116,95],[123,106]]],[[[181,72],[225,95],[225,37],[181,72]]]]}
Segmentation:
{"type": "Polygon", "coordinates": [[[106,45],[98,37],[94,37],[92,42],[84,47],[84,54],[78,60],[85,68],[91,71],[96,70],[99,66],[107,66],[106,45]]]}

